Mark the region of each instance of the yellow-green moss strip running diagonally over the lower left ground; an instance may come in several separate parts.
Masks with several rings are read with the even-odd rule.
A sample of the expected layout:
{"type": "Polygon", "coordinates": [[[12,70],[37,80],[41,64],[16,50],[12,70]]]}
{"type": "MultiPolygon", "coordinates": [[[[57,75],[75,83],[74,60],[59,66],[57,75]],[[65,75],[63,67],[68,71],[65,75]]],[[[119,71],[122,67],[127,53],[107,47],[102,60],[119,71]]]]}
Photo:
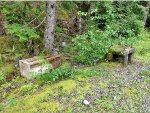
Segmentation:
{"type": "MultiPolygon", "coordinates": [[[[19,90],[21,90],[22,87],[19,90]]],[[[58,109],[61,109],[61,105],[56,104],[54,101],[52,102],[50,99],[51,97],[54,98],[59,96],[58,91],[60,87],[62,87],[65,93],[70,93],[76,87],[76,82],[74,80],[64,80],[53,85],[45,85],[44,90],[32,95],[25,95],[24,97],[18,97],[18,94],[11,94],[12,97],[17,98],[18,103],[14,107],[5,106],[7,109],[5,109],[4,112],[56,112],[58,109]]]]}

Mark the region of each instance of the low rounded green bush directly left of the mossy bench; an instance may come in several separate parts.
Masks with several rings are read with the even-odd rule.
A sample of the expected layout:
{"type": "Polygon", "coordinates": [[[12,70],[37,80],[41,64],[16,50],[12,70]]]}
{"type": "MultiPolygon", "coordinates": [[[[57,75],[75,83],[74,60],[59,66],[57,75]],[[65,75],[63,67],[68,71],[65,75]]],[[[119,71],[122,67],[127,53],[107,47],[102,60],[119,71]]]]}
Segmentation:
{"type": "Polygon", "coordinates": [[[93,65],[104,59],[110,42],[103,33],[92,29],[77,35],[73,40],[74,60],[78,63],[93,65]]]}

